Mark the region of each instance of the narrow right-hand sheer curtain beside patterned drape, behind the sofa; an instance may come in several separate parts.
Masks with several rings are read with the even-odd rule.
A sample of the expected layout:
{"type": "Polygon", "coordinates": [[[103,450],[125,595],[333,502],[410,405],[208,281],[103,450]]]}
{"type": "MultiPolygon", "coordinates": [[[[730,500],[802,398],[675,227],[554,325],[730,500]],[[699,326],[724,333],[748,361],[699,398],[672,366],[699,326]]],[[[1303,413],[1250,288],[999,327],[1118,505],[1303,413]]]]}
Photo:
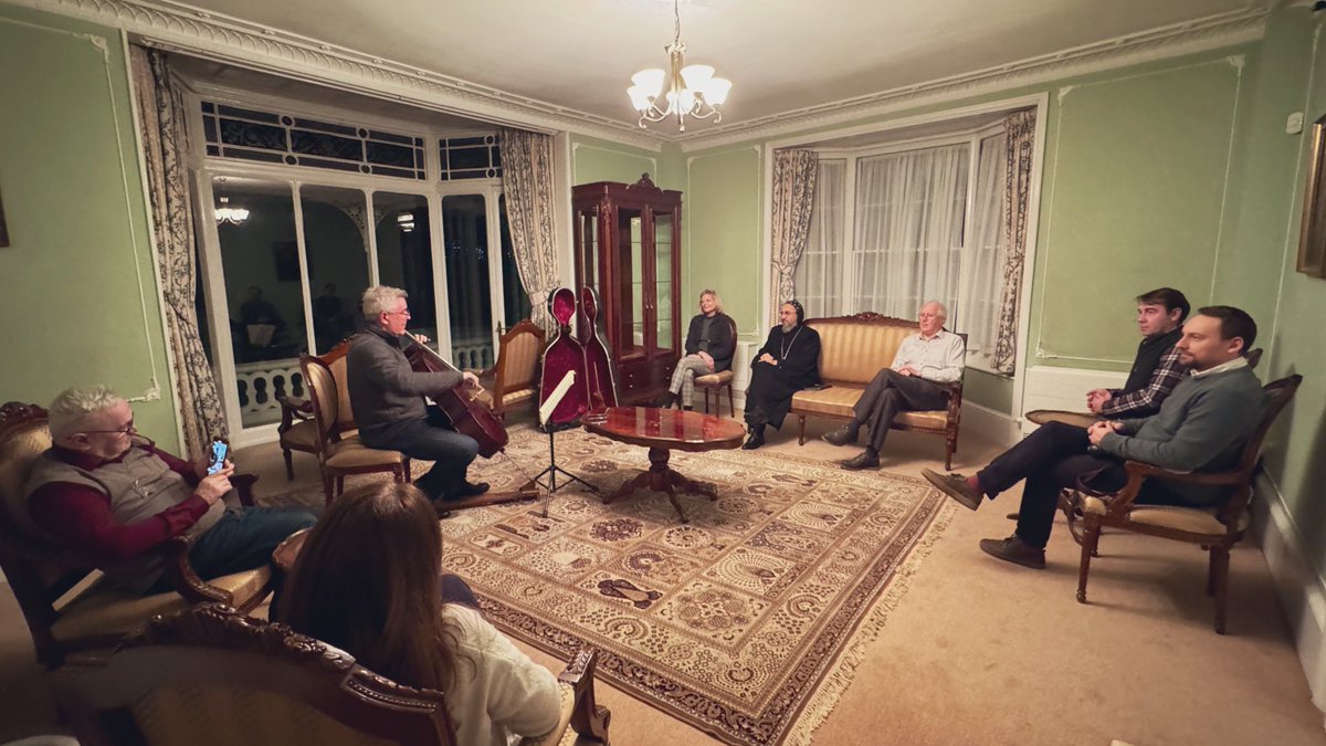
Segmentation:
{"type": "Polygon", "coordinates": [[[967,332],[968,361],[983,365],[991,365],[991,356],[994,353],[1004,285],[1006,147],[1008,135],[1004,133],[980,141],[972,195],[972,227],[963,252],[968,287],[957,304],[949,307],[948,327],[955,332],[967,332]]]}

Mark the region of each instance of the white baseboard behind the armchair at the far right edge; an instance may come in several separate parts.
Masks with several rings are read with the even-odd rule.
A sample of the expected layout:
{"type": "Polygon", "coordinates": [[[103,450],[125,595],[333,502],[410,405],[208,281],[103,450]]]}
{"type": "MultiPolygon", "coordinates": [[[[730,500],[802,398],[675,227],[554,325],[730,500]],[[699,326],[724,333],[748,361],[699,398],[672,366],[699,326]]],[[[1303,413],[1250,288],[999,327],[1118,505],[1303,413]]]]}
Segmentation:
{"type": "Polygon", "coordinates": [[[1326,577],[1303,551],[1302,535],[1276,482],[1262,474],[1256,490],[1261,499],[1253,500],[1253,536],[1289,620],[1313,705],[1326,713],[1326,577]]]}

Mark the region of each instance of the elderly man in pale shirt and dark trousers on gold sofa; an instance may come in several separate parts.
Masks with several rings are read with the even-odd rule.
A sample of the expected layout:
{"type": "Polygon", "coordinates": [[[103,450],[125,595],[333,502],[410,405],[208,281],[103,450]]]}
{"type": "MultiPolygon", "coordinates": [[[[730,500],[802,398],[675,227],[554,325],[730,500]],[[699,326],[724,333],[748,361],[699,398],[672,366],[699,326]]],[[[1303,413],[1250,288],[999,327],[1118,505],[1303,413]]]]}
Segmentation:
{"type": "Polygon", "coordinates": [[[825,441],[846,446],[857,442],[862,425],[870,426],[866,450],[839,462],[843,469],[879,466],[879,451],[899,411],[944,409],[948,405],[948,390],[941,384],[961,380],[967,345],[957,335],[944,331],[947,319],[948,309],[943,303],[931,300],[922,305],[916,319],[920,332],[903,340],[892,365],[875,373],[853,406],[851,419],[825,435],[825,441]]]}

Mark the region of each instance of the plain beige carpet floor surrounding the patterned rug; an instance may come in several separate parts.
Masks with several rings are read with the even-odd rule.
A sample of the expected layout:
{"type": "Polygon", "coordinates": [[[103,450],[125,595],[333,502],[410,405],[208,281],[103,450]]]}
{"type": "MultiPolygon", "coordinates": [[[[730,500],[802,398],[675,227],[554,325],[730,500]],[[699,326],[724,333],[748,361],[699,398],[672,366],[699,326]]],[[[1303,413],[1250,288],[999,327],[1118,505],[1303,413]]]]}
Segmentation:
{"type": "MultiPolygon", "coordinates": [[[[812,419],[809,434],[826,427],[812,419]]],[[[797,446],[794,435],[773,433],[760,453],[829,465],[854,451],[818,439],[797,446]]],[[[997,453],[964,427],[955,467],[980,466],[997,453]]],[[[286,482],[274,445],[243,449],[236,462],[261,475],[260,495],[317,483],[306,454],[294,455],[296,482],[286,482]]],[[[936,438],[890,434],[886,471],[916,477],[941,466],[936,438]]],[[[1017,496],[1014,490],[980,512],[953,515],[908,579],[903,603],[888,608],[888,623],[863,645],[851,686],[813,743],[1326,743],[1256,544],[1232,555],[1231,633],[1221,637],[1211,631],[1211,601],[1201,592],[1203,555],[1191,547],[1106,536],[1086,605],[1073,597],[1077,547],[1062,526],[1044,572],[983,555],[977,539],[1008,535],[1004,514],[1016,510],[1017,496]]],[[[888,607],[888,599],[876,605],[888,607]]],[[[517,644],[561,670],[558,656],[517,644]]],[[[598,701],[613,710],[619,746],[717,743],[602,678],[598,701]]],[[[60,726],[28,631],[0,588],[0,742],[52,731],[60,726]]]]}

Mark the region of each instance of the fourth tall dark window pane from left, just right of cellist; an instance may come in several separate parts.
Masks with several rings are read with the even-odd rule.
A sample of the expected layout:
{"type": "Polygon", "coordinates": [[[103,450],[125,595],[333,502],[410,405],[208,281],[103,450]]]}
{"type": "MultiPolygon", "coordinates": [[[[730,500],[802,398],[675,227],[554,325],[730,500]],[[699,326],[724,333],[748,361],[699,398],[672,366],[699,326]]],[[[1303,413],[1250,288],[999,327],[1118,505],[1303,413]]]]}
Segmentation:
{"type": "Polygon", "coordinates": [[[492,285],[488,281],[488,219],[481,194],[442,198],[451,362],[485,369],[493,364],[492,285]]]}

